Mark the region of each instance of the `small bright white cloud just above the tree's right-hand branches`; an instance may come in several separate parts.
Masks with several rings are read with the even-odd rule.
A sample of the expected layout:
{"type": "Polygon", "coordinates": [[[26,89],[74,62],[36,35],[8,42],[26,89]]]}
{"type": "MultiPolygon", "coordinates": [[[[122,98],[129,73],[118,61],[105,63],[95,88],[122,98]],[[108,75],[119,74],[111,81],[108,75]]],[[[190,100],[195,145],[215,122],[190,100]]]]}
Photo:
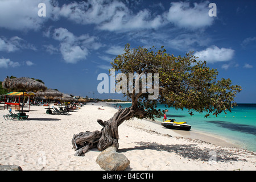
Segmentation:
{"type": "Polygon", "coordinates": [[[234,56],[234,50],[230,48],[218,48],[217,46],[212,46],[204,51],[195,52],[195,56],[199,57],[199,60],[205,60],[208,63],[229,61],[234,56]]]}

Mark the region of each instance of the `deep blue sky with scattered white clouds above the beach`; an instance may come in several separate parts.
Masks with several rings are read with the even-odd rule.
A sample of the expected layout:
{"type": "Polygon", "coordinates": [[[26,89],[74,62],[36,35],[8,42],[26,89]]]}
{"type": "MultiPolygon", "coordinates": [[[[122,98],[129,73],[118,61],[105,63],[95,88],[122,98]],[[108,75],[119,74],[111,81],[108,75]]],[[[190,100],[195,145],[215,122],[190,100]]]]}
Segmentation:
{"type": "Polygon", "coordinates": [[[96,98],[100,73],[131,47],[195,51],[219,78],[241,85],[238,103],[256,103],[256,1],[0,0],[0,80],[34,77],[48,88],[96,98]],[[46,16],[38,16],[45,3],[46,16]],[[217,16],[209,16],[210,3],[217,16]]]}

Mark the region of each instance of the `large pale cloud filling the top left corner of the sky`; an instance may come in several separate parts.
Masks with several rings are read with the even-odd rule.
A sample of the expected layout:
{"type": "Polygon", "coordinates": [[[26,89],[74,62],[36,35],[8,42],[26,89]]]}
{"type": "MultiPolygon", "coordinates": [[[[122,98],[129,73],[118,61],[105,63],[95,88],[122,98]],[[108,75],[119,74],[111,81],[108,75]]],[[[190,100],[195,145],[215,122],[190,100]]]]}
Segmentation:
{"type": "Polygon", "coordinates": [[[46,20],[55,19],[58,7],[54,0],[1,0],[0,27],[11,30],[39,30],[46,20]],[[46,4],[46,17],[39,17],[39,3],[46,4]]]}

